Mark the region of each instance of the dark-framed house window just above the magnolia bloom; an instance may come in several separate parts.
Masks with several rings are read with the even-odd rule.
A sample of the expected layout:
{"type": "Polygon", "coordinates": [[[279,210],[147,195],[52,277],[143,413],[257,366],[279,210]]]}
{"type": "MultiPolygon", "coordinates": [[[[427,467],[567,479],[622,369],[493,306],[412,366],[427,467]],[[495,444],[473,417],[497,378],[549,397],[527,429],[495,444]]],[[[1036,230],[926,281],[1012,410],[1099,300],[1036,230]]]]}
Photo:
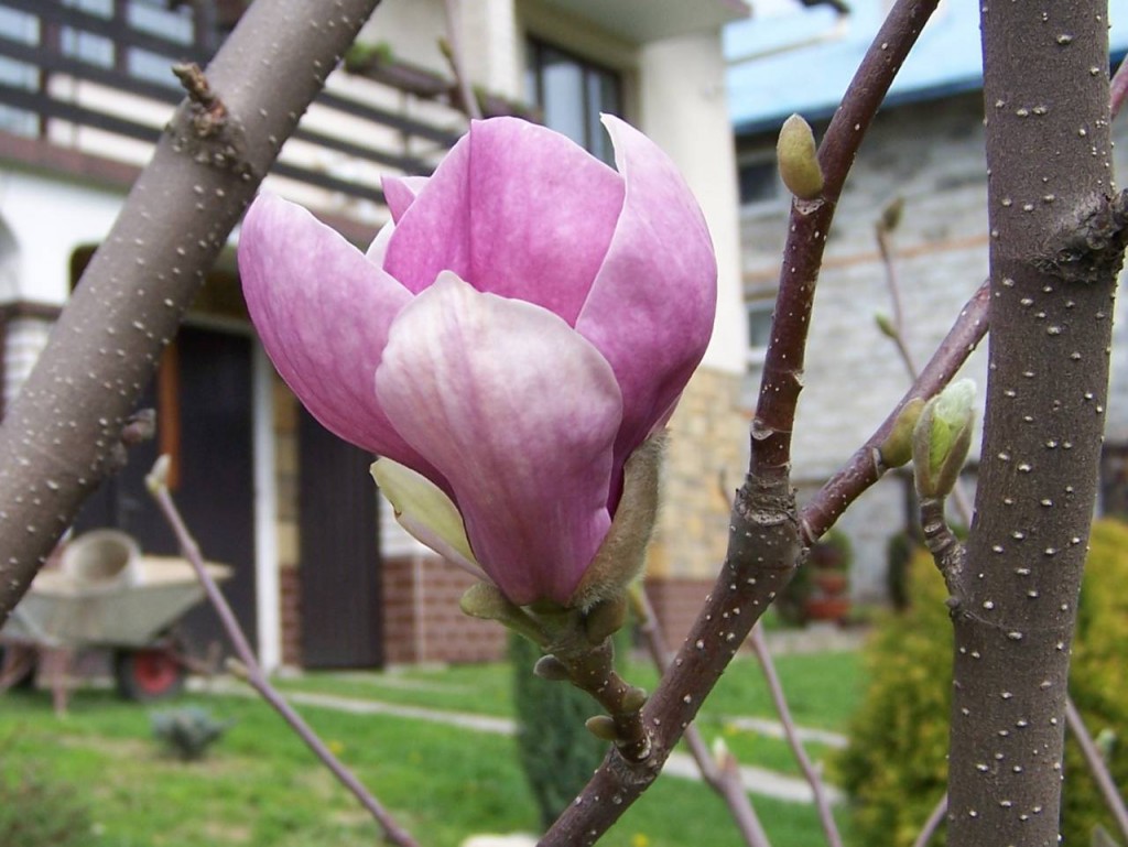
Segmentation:
{"type": "Polygon", "coordinates": [[[558,47],[530,41],[526,88],[545,125],[613,164],[615,151],[599,123],[601,112],[623,114],[623,85],[610,68],[558,47]]]}

